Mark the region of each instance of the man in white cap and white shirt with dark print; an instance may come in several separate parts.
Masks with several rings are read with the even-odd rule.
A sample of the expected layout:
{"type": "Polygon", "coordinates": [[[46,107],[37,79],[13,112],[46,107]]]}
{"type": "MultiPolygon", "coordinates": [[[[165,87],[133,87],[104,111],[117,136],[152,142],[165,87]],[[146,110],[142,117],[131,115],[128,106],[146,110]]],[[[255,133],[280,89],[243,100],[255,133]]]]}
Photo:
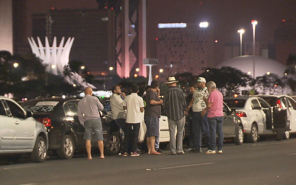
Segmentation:
{"type": "Polygon", "coordinates": [[[208,115],[207,112],[205,116],[201,115],[203,109],[207,107],[203,97],[208,97],[208,88],[205,86],[205,78],[199,77],[196,81],[197,88],[193,94],[193,97],[187,106],[186,114],[189,109],[192,107],[193,116],[192,116],[192,132],[193,132],[193,144],[194,150],[191,152],[201,152],[202,151],[202,137],[201,132],[203,131],[205,135],[205,142],[207,147],[210,147],[210,130],[208,124],[208,115]],[[202,130],[201,130],[202,129],[202,130]]]}

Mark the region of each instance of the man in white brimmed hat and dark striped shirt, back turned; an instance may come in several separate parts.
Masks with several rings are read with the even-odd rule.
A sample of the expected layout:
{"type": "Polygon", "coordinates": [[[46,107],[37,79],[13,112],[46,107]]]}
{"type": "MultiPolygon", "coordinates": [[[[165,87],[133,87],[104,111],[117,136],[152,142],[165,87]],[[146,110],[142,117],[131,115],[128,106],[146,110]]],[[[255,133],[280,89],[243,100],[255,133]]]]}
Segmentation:
{"type": "Polygon", "coordinates": [[[164,93],[163,107],[168,117],[170,132],[170,155],[184,154],[183,132],[185,126],[186,100],[183,91],[177,87],[175,77],[168,77],[168,89],[164,93]],[[175,129],[177,126],[177,148],[175,129]]]}

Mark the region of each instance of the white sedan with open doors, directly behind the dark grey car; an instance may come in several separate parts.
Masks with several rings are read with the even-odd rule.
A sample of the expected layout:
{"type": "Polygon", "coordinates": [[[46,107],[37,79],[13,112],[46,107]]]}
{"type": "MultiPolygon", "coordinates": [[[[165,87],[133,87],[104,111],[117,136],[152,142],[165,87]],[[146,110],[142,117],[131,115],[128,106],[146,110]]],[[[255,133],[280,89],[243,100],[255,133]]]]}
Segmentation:
{"type": "Polygon", "coordinates": [[[272,135],[281,140],[283,131],[290,129],[287,120],[287,108],[273,107],[256,96],[224,97],[223,101],[236,110],[244,127],[245,135],[250,142],[257,142],[258,135],[272,135]]]}

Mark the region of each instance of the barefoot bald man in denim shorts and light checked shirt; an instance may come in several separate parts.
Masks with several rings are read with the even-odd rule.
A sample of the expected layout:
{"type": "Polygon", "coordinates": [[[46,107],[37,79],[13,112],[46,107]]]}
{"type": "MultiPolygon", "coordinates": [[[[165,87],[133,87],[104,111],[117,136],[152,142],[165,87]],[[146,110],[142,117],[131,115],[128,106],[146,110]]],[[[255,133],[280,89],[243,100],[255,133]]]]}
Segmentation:
{"type": "Polygon", "coordinates": [[[103,144],[103,132],[102,122],[100,118],[99,110],[103,110],[103,105],[97,97],[92,96],[92,89],[86,87],[85,96],[78,102],[78,118],[80,124],[84,126],[85,147],[88,158],[91,158],[91,135],[94,132],[94,140],[98,142],[100,150],[100,158],[104,159],[104,144],[103,144]]]}

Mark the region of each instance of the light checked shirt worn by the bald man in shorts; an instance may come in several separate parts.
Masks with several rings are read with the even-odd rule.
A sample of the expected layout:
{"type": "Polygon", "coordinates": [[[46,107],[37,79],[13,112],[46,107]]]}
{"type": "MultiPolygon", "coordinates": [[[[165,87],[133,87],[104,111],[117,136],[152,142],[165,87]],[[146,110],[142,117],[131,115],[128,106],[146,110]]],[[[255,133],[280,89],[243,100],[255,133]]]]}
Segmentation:
{"type": "Polygon", "coordinates": [[[77,113],[80,124],[84,126],[86,120],[100,119],[99,110],[103,110],[103,108],[97,97],[88,94],[85,95],[78,102],[77,113]]]}

